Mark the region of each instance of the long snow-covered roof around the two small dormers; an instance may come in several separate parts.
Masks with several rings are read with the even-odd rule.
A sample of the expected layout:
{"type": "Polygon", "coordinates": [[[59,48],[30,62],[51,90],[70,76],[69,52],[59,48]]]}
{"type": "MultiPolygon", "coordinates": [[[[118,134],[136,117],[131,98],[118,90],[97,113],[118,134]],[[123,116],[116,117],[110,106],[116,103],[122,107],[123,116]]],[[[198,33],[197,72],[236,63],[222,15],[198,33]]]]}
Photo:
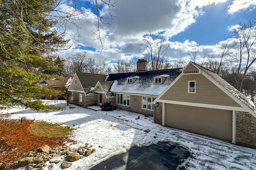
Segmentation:
{"type": "Polygon", "coordinates": [[[127,72],[109,74],[107,81],[114,81],[111,92],[160,95],[169,84],[182,72],[181,68],[167,70],[150,70],[143,72],[127,72]],[[166,77],[163,84],[154,84],[154,76],[166,77]],[[127,84],[126,78],[137,78],[134,83],[127,84]]]}

